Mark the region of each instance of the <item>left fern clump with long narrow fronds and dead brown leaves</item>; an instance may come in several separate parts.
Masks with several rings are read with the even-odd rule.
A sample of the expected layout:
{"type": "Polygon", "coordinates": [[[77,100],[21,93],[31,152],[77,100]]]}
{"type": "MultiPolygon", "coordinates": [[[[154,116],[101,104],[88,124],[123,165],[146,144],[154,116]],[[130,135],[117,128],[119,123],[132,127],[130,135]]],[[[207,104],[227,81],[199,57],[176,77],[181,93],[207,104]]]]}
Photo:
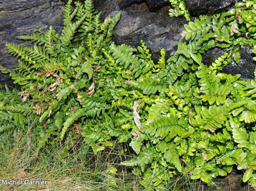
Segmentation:
{"type": "MultiPolygon", "coordinates": [[[[102,23],[99,20],[101,13],[94,10],[92,0],[87,0],[84,4],[76,2],[74,9],[71,2],[69,0],[64,8],[64,28],[60,36],[50,27],[45,33],[36,30],[32,35],[18,37],[32,40],[35,43],[33,47],[10,43],[6,45],[7,51],[19,58],[19,65],[15,71],[3,67],[1,70],[3,73],[10,73],[14,83],[21,87],[23,93],[19,95],[24,102],[21,114],[34,110],[33,113],[40,117],[39,122],[42,124],[38,126],[41,128],[41,138],[38,140],[36,155],[46,142],[69,139],[77,141],[81,130],[91,123],[86,118],[93,119],[109,108],[105,103],[107,98],[94,95],[94,92],[99,78],[97,73],[101,65],[107,62],[104,49],[109,51],[111,33],[119,21],[120,13],[113,18],[107,17],[102,23]]],[[[15,107],[12,103],[2,104],[8,104],[2,106],[2,110],[15,107]]],[[[1,113],[2,116],[4,121],[1,123],[7,125],[2,129],[11,125],[7,118],[14,122],[24,121],[18,120],[20,115],[15,116],[10,110],[9,117],[5,117],[5,112],[1,113]]],[[[93,121],[96,125],[96,120],[93,121]]],[[[98,129],[97,140],[92,135],[96,128],[89,131],[89,134],[83,133],[86,141],[89,137],[92,145],[108,140],[109,135],[101,133],[100,129],[101,127],[98,129]]]]}

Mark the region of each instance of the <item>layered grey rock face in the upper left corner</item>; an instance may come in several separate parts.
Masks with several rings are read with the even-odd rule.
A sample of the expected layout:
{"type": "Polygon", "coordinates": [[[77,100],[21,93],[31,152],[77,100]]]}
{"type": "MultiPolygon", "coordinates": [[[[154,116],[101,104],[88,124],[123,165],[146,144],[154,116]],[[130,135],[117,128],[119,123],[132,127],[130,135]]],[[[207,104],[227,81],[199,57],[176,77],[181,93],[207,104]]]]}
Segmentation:
{"type": "MultiPolygon", "coordinates": [[[[17,59],[5,50],[6,42],[30,45],[15,36],[31,34],[34,29],[45,31],[49,26],[60,32],[64,3],[58,0],[0,0],[0,63],[13,68],[17,59]]],[[[12,85],[12,80],[0,72],[0,84],[12,85]]]]}

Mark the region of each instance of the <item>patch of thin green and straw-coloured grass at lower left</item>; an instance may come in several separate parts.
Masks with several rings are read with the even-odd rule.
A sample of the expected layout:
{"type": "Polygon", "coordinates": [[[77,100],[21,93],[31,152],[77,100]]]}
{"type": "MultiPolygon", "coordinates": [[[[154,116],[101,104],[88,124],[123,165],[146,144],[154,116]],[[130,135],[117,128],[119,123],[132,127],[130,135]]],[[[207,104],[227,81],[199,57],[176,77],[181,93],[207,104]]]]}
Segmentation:
{"type": "Polygon", "coordinates": [[[12,143],[2,139],[1,136],[1,169],[2,179],[28,179],[28,180],[48,180],[46,185],[1,185],[2,189],[30,190],[142,190],[140,189],[137,177],[131,172],[122,169],[122,173],[114,177],[106,173],[106,169],[115,165],[115,158],[107,159],[110,153],[101,152],[94,156],[92,152],[81,146],[77,152],[70,154],[66,159],[55,159],[58,149],[53,152],[40,154],[35,160],[29,152],[27,144],[19,147],[11,147],[12,143]],[[116,186],[109,185],[109,180],[114,180],[116,186]]]}

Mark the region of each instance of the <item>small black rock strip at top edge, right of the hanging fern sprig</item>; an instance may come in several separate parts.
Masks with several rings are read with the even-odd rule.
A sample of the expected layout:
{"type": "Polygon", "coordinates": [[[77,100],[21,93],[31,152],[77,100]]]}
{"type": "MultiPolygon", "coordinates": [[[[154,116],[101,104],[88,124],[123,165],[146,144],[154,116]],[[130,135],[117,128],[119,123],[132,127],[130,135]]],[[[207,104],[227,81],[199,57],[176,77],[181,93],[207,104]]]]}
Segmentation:
{"type": "Polygon", "coordinates": [[[226,8],[236,0],[184,0],[189,10],[215,11],[226,8]]]}

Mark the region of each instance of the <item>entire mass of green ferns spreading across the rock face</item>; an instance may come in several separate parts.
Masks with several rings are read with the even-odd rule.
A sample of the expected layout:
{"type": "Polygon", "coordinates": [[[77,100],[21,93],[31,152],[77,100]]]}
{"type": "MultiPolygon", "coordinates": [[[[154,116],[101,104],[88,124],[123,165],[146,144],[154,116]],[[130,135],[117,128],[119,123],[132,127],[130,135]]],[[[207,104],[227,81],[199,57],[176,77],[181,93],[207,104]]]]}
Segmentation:
{"type": "Polygon", "coordinates": [[[112,146],[111,138],[129,142],[137,155],[121,164],[135,166],[147,190],[168,188],[178,174],[211,184],[234,166],[255,188],[256,79],[221,73],[240,47],[256,45],[254,4],[244,1],[189,22],[187,41],[180,40],[167,60],[161,50],[155,63],[145,42],[135,49],[111,41],[120,13],[101,22],[92,0],[76,2],[74,9],[69,0],[61,36],[50,28],[19,37],[34,47],[7,44],[19,65],[0,69],[21,92],[20,99],[1,93],[10,95],[0,100],[0,131],[37,115],[42,133],[36,155],[47,142],[80,136],[95,154],[112,146]],[[226,53],[207,66],[201,57],[213,47],[226,53]],[[17,110],[8,112],[12,105],[17,110]]]}

